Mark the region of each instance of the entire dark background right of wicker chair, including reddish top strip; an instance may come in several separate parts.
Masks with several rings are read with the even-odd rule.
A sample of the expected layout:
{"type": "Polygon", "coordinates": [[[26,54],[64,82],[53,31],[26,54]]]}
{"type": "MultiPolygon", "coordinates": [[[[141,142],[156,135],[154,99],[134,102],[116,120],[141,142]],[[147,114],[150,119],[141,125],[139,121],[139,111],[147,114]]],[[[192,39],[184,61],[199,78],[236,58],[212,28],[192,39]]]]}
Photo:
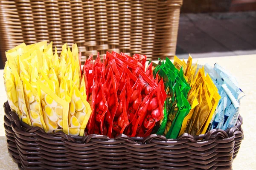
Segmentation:
{"type": "Polygon", "coordinates": [[[256,54],[256,0],[183,0],[176,55],[256,54]]]}

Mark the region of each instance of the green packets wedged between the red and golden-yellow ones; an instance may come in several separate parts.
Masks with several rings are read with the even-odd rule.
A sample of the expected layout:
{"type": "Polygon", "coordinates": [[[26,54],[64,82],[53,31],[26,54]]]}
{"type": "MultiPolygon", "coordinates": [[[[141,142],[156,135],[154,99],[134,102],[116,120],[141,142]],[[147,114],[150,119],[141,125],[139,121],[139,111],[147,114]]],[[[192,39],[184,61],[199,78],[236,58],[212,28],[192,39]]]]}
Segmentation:
{"type": "MultiPolygon", "coordinates": [[[[177,133],[178,135],[183,119],[189,113],[189,110],[191,108],[186,99],[187,94],[191,89],[191,87],[186,82],[186,79],[183,76],[183,69],[180,69],[179,71],[168,58],[166,58],[165,62],[164,61],[162,62],[160,59],[158,61],[159,61],[158,65],[153,63],[153,66],[155,67],[153,70],[153,75],[155,78],[156,74],[158,73],[158,75],[163,78],[163,82],[166,87],[165,90],[167,93],[167,98],[164,104],[165,107],[163,111],[164,113],[163,120],[155,125],[154,129],[152,130],[152,134],[155,133],[157,135],[163,135],[166,130],[166,125],[168,121],[170,121],[172,123],[171,126],[173,126],[173,124],[176,122],[175,120],[177,119],[177,115],[180,112],[179,110],[177,110],[177,104],[178,104],[180,107],[181,106],[186,107],[186,109],[184,109],[184,111],[181,112],[180,114],[182,116],[179,116],[179,118],[177,119],[176,124],[179,124],[179,127],[177,127],[177,130],[176,128],[174,129],[175,133],[173,134],[177,133]],[[175,91],[178,91],[177,92],[178,94],[176,94],[175,91]],[[178,98],[177,98],[177,95],[178,95],[178,98]]],[[[171,134],[170,130],[171,128],[169,129],[169,134],[171,134]]],[[[175,138],[177,138],[177,135],[175,138]]]]}

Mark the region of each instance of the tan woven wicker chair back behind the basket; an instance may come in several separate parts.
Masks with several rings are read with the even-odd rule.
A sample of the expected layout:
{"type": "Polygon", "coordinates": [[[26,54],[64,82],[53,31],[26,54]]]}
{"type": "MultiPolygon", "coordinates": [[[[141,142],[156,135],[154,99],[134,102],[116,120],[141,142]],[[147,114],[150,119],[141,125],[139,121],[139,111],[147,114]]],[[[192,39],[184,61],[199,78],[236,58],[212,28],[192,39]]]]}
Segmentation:
{"type": "Polygon", "coordinates": [[[182,0],[1,0],[0,55],[21,42],[77,43],[97,51],[173,57],[182,0]]]}

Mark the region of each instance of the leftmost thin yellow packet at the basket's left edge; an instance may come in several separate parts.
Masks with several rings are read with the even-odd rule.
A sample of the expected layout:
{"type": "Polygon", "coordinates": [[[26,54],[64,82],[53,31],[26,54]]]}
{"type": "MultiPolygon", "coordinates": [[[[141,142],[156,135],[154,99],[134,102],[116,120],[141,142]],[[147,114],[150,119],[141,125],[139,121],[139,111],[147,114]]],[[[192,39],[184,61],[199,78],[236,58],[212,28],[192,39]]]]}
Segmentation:
{"type": "Polygon", "coordinates": [[[16,112],[20,117],[16,87],[15,87],[15,78],[12,74],[11,68],[9,67],[9,61],[6,61],[6,65],[3,71],[3,82],[6,90],[7,100],[9,102],[10,108],[12,111],[16,112]]]}

